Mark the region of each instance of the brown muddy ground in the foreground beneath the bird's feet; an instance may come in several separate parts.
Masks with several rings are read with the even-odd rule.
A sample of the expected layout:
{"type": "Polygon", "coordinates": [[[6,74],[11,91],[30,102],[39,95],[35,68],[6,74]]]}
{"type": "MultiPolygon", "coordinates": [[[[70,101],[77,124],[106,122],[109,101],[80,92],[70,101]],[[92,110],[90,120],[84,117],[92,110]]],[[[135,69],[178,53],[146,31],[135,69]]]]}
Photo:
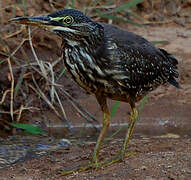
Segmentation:
{"type": "MultiPolygon", "coordinates": [[[[116,154],[121,140],[114,140],[102,149],[101,159],[116,154]]],[[[1,170],[1,179],[190,179],[190,138],[133,138],[129,145],[135,156],[99,170],[88,170],[60,176],[63,170],[85,165],[94,143],[70,147],[1,170]]]]}

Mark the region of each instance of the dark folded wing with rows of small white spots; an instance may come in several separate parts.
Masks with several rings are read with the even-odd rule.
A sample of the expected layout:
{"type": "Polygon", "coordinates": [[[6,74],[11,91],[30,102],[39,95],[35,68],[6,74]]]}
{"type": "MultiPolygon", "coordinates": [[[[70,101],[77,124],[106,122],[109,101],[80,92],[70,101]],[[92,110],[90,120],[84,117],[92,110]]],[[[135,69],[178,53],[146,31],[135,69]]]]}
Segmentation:
{"type": "Polygon", "coordinates": [[[132,32],[113,25],[102,25],[109,45],[101,48],[100,56],[108,76],[137,92],[153,90],[166,82],[180,87],[175,79],[179,75],[176,71],[178,61],[174,56],[132,32]]]}

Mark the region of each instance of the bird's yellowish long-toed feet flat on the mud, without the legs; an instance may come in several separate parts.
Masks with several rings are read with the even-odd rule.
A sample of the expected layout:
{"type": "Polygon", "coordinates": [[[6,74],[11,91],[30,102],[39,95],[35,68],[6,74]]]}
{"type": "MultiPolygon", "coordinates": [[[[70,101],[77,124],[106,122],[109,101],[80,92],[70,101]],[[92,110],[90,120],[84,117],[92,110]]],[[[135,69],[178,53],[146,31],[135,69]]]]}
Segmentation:
{"type": "Polygon", "coordinates": [[[63,171],[61,173],[61,176],[66,176],[66,175],[69,175],[69,174],[72,174],[72,173],[76,173],[76,172],[84,172],[84,171],[87,171],[89,169],[95,169],[95,170],[98,170],[100,168],[103,168],[103,167],[106,167],[106,166],[109,166],[113,163],[116,163],[116,162],[119,162],[119,161],[123,161],[125,158],[128,158],[130,156],[133,156],[135,155],[136,153],[135,152],[132,152],[132,153],[128,153],[128,154],[125,154],[125,155],[122,155],[121,153],[119,153],[118,155],[114,156],[113,158],[111,159],[108,159],[106,161],[102,161],[102,162],[90,162],[89,164],[85,165],[85,166],[79,166],[77,168],[74,168],[74,169],[70,169],[70,170],[66,170],[66,171],[63,171]]]}

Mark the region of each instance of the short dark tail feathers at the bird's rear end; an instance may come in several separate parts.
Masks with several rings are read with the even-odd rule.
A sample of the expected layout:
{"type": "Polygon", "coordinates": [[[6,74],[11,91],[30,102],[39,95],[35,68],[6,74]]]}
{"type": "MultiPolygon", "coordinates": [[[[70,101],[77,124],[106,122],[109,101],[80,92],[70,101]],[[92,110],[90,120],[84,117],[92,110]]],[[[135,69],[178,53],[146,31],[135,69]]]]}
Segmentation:
{"type": "Polygon", "coordinates": [[[160,48],[160,51],[168,59],[169,63],[171,64],[171,67],[172,67],[171,76],[169,77],[168,82],[170,84],[172,84],[173,86],[177,87],[177,88],[181,88],[181,86],[179,85],[179,83],[175,79],[175,78],[179,77],[179,73],[177,71],[177,69],[178,69],[178,60],[172,54],[168,53],[164,49],[160,48]]]}

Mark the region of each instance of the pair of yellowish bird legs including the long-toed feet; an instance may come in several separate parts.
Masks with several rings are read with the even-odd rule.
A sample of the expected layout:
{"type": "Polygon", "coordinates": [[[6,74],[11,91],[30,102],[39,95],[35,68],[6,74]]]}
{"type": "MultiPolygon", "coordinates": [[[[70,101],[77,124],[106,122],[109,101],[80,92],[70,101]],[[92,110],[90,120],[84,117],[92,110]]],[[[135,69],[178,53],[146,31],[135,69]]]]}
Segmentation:
{"type": "Polygon", "coordinates": [[[131,111],[130,118],[129,118],[129,126],[128,126],[127,133],[125,135],[125,140],[124,140],[124,143],[123,143],[123,146],[121,148],[120,153],[118,155],[114,156],[112,159],[106,160],[104,162],[98,162],[98,156],[99,156],[101,144],[104,140],[106,131],[107,131],[109,124],[110,124],[110,114],[109,114],[109,110],[107,108],[106,98],[103,98],[100,96],[96,96],[96,98],[97,98],[98,103],[101,106],[102,111],[103,111],[103,128],[99,134],[99,137],[98,137],[98,140],[96,143],[96,147],[95,147],[94,152],[93,152],[92,161],[84,167],[77,167],[76,169],[64,171],[61,175],[65,176],[65,175],[71,174],[73,172],[82,172],[82,171],[86,171],[86,170],[91,169],[91,168],[92,169],[98,169],[98,168],[101,168],[104,166],[111,165],[115,162],[119,162],[119,161],[121,161],[124,158],[127,158],[129,156],[135,155],[135,153],[126,154],[127,146],[128,146],[129,141],[130,141],[131,135],[133,133],[136,119],[138,117],[138,112],[135,108],[135,103],[132,102],[130,104],[132,111],[131,111]]]}

